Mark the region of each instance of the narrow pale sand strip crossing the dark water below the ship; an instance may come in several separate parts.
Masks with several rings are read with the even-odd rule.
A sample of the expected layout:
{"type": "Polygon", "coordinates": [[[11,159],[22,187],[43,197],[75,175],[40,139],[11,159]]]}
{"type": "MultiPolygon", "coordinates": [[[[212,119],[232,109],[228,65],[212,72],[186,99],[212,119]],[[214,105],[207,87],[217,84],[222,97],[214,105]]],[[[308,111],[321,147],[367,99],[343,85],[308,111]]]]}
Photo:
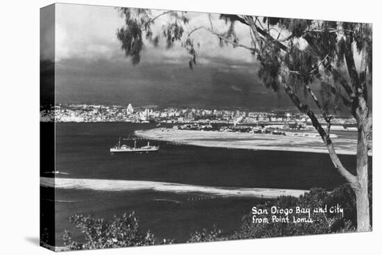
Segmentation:
{"type": "Polygon", "coordinates": [[[281,195],[299,197],[308,190],[287,190],[274,188],[221,188],[209,186],[194,186],[180,183],[166,183],[159,181],[127,181],[104,179],[69,179],[40,177],[40,185],[51,188],[103,190],[103,191],[133,191],[154,190],[176,193],[203,193],[208,195],[232,197],[263,197],[274,198],[281,195]]]}

